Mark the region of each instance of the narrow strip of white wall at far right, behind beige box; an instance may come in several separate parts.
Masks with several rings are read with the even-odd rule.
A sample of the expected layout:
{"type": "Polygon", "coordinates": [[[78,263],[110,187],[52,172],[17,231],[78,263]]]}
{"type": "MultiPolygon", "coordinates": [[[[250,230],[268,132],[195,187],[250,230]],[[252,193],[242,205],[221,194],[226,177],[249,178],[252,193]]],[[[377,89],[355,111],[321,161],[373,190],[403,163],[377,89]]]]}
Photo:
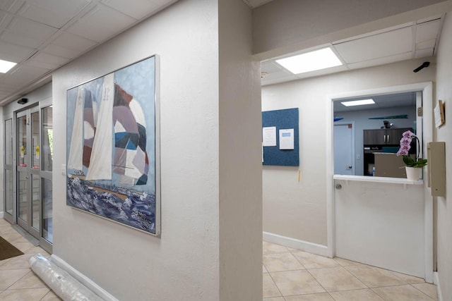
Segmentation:
{"type": "MultiPolygon", "coordinates": [[[[442,300],[452,300],[452,13],[446,15],[438,48],[436,97],[446,103],[446,123],[436,130],[436,141],[446,142],[446,197],[437,197],[438,274],[442,300]]],[[[433,106],[433,107],[434,107],[433,106]]]]}

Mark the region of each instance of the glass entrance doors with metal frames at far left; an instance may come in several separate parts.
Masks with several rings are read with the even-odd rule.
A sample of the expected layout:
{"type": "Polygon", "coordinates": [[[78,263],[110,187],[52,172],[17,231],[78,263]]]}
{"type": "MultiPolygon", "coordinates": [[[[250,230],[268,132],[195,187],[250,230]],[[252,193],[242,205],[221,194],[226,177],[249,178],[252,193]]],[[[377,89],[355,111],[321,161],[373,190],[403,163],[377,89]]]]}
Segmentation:
{"type": "Polygon", "coordinates": [[[52,99],[7,117],[4,219],[18,224],[52,253],[52,99]]]}

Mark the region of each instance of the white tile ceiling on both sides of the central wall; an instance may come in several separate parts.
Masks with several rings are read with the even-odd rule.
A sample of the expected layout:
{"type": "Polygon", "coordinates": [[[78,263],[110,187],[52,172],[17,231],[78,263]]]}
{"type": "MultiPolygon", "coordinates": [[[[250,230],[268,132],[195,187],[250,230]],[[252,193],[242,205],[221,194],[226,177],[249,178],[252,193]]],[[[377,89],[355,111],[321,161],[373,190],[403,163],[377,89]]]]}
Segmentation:
{"type": "MultiPolygon", "coordinates": [[[[18,64],[8,73],[0,73],[0,106],[49,82],[52,70],[176,1],[1,0],[0,59],[18,64]]],[[[243,1],[256,8],[271,0],[243,1]]],[[[328,70],[292,75],[275,61],[264,61],[262,70],[268,75],[262,84],[432,56],[441,24],[441,16],[435,16],[333,42],[330,46],[345,65],[328,70]]]]}

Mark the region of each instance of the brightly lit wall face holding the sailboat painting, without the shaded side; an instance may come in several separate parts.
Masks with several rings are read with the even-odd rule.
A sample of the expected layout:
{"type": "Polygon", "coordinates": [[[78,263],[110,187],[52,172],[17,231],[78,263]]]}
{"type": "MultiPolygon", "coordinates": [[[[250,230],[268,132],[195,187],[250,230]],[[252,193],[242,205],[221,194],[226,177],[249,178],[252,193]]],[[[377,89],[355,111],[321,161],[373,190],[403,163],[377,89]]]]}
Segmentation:
{"type": "Polygon", "coordinates": [[[66,206],[54,173],[54,254],[119,300],[219,300],[218,3],[178,1],[57,70],[55,171],[66,90],[160,55],[162,238],[66,206]]]}

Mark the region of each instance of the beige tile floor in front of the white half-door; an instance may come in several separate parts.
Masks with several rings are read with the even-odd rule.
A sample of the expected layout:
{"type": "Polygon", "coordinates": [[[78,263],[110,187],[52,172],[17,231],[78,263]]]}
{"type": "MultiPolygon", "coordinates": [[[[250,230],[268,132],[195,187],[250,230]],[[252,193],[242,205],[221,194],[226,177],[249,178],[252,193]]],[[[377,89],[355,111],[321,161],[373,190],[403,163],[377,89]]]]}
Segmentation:
{"type": "Polygon", "coordinates": [[[433,301],[424,279],[263,242],[264,301],[433,301]]]}

